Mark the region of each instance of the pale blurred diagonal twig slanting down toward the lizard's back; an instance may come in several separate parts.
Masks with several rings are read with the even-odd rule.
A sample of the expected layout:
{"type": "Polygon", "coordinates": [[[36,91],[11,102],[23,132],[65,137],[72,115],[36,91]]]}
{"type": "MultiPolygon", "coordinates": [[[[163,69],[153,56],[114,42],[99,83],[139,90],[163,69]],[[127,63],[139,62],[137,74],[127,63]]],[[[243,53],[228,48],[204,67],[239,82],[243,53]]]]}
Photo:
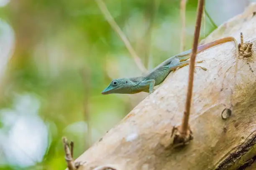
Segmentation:
{"type": "Polygon", "coordinates": [[[147,72],[147,69],[142,64],[140,57],[138,57],[138,55],[136,54],[135,50],[131,46],[131,43],[129,42],[128,38],[125,36],[125,34],[121,30],[121,28],[115,22],[114,18],[112,17],[110,12],[108,11],[108,8],[105,5],[105,3],[102,0],[95,0],[95,2],[97,2],[97,5],[99,6],[102,14],[105,16],[105,18],[108,21],[108,23],[110,24],[110,26],[113,28],[113,30],[115,30],[115,32],[118,34],[118,36],[124,42],[127,50],[130,52],[131,56],[133,57],[133,60],[135,61],[136,65],[138,66],[138,68],[143,73],[147,72]]]}

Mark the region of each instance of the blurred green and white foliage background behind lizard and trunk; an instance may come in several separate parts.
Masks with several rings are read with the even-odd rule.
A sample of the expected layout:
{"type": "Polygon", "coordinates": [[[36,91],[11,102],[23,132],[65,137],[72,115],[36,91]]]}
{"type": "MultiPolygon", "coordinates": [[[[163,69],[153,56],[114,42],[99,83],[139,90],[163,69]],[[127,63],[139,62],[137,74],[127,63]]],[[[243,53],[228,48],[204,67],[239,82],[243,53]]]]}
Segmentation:
{"type": "MultiPolygon", "coordinates": [[[[179,53],[180,0],[105,0],[151,69],[179,53]]],[[[201,37],[250,0],[206,0],[201,37]]],[[[197,0],[188,0],[186,50],[197,0]]],[[[0,0],[0,169],[64,170],[61,137],[77,158],[147,93],[101,95],[112,79],[141,71],[94,0],[0,0]]]]}

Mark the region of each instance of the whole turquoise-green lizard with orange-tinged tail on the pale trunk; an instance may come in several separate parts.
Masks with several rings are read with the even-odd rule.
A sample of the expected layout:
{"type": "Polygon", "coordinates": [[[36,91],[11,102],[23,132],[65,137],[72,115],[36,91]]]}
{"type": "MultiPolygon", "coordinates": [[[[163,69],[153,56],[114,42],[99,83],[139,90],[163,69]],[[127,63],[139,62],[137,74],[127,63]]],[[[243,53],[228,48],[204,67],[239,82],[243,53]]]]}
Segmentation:
{"type": "MultiPolygon", "coordinates": [[[[225,42],[234,41],[237,44],[236,39],[234,37],[225,37],[219,40],[215,40],[209,42],[204,45],[200,45],[197,47],[197,53],[202,52],[210,47],[215,45],[219,45],[225,42]]],[[[115,79],[110,82],[107,88],[105,88],[101,93],[103,95],[111,94],[111,93],[121,93],[121,94],[134,94],[138,92],[149,92],[152,93],[154,91],[154,86],[161,84],[169,75],[169,73],[179,67],[184,67],[185,65],[189,65],[191,49],[185,52],[182,52],[178,55],[174,55],[158,66],[156,66],[153,70],[148,72],[146,75],[142,75],[139,77],[130,77],[130,78],[120,78],[115,79]]],[[[202,62],[202,61],[199,61],[202,62]]],[[[199,67],[199,66],[196,66],[199,67]]],[[[203,67],[200,67],[206,70],[203,67]]]]}

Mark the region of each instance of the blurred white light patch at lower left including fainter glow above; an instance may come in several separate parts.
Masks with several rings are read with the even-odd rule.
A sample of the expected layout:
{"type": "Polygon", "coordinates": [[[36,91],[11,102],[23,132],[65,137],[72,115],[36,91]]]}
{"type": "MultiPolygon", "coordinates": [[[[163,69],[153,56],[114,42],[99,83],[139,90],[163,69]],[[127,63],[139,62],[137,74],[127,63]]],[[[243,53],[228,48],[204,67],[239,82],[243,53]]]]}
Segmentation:
{"type": "Polygon", "coordinates": [[[0,148],[10,165],[32,166],[42,161],[48,147],[48,129],[33,95],[15,95],[13,108],[0,110],[0,148]]]}

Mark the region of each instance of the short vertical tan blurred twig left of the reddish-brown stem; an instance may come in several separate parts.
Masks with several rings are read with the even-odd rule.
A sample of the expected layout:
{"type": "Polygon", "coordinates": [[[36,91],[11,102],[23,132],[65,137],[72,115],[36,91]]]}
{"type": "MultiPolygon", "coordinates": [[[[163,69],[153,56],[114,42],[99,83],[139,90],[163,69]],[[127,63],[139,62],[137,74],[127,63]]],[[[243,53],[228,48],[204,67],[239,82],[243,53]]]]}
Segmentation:
{"type": "Polygon", "coordinates": [[[182,29],[180,35],[180,52],[185,50],[186,41],[186,4],[187,0],[180,1],[180,17],[182,22],[182,29]]]}

